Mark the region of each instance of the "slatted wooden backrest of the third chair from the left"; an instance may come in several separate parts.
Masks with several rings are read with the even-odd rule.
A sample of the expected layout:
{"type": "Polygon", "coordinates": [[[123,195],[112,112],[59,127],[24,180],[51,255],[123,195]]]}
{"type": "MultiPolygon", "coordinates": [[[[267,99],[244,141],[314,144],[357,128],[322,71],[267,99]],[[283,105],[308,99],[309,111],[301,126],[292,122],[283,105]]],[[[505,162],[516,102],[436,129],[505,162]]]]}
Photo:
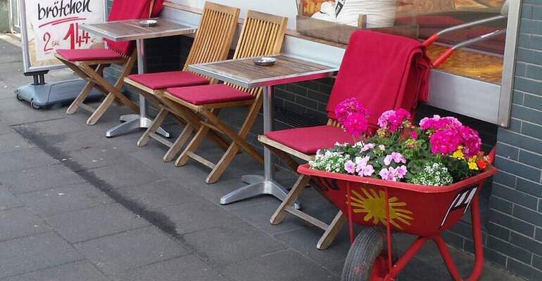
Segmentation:
{"type": "MultiPolygon", "coordinates": [[[[288,18],[277,15],[248,11],[237,42],[234,59],[279,54],[284,40],[284,33],[286,32],[287,21],[288,18]]],[[[261,88],[246,89],[241,86],[226,84],[254,96],[262,91],[261,88]]]]}

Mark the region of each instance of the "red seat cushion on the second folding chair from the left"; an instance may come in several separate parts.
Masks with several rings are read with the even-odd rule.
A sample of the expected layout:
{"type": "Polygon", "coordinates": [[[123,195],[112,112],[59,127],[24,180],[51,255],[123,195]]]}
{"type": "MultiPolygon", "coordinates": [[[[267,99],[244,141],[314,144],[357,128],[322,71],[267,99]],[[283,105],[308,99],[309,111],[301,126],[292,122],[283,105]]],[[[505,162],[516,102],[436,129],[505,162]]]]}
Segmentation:
{"type": "Polygon", "coordinates": [[[128,78],[153,90],[209,84],[209,80],[187,71],[132,74],[128,78]]]}

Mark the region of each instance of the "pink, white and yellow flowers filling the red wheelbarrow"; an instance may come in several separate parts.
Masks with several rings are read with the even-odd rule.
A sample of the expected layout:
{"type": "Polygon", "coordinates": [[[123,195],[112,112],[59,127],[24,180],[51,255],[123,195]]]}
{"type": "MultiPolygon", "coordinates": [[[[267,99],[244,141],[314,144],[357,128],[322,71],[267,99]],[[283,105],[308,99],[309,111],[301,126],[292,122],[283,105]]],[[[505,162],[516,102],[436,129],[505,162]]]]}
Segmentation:
{"type": "Polygon", "coordinates": [[[418,185],[450,185],[481,173],[490,164],[480,151],[478,132],[454,117],[434,115],[414,126],[407,110],[388,110],[379,117],[377,132],[368,136],[370,112],[355,98],[339,103],[335,115],[353,136],[353,143],[318,150],[315,160],[309,162],[312,169],[418,185]]]}

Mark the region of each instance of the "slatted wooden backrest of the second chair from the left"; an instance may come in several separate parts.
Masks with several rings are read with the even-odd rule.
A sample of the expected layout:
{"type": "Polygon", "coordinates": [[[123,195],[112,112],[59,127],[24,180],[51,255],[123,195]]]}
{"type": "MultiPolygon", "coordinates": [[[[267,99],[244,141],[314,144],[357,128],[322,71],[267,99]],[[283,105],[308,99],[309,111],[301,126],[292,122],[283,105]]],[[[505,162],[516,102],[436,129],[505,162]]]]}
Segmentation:
{"type": "MultiPolygon", "coordinates": [[[[206,2],[194,43],[182,70],[187,71],[188,65],[192,64],[225,60],[232,45],[238,19],[239,8],[206,2]]],[[[210,81],[216,82],[215,79],[210,81]]]]}

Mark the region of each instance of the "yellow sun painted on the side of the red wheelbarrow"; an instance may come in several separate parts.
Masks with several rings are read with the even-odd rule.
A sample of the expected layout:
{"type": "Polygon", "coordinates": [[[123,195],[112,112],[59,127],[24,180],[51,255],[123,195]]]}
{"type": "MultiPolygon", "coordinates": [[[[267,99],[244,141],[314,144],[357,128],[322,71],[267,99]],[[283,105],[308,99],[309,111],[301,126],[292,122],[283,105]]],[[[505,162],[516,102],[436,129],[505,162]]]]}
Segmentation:
{"type": "MultiPolygon", "coordinates": [[[[363,218],[364,221],[369,221],[372,218],[372,223],[375,225],[380,221],[384,224],[384,226],[386,226],[386,204],[384,204],[386,201],[386,193],[384,190],[380,190],[379,194],[372,189],[370,190],[370,193],[367,192],[365,188],[361,188],[361,191],[363,191],[365,197],[360,195],[355,190],[351,190],[353,194],[350,197],[353,207],[352,211],[354,213],[367,213],[363,218]]],[[[346,197],[348,198],[348,195],[346,195],[346,197]]],[[[401,206],[406,206],[406,203],[397,202],[397,197],[391,197],[388,201],[389,223],[398,229],[403,229],[401,226],[399,226],[398,222],[410,226],[410,221],[414,220],[412,216],[409,216],[412,215],[412,211],[398,208],[401,206]]],[[[348,204],[348,200],[346,201],[346,204],[348,204]]]]}

